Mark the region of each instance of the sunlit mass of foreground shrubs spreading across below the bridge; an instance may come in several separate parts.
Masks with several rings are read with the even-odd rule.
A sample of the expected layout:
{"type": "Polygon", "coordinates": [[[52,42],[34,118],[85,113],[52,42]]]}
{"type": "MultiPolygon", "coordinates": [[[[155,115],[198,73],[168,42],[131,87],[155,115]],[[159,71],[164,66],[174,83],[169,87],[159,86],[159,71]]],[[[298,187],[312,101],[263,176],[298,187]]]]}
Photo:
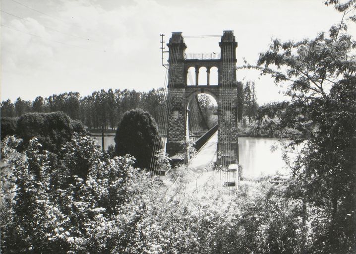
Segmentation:
{"type": "MultiPolygon", "coordinates": [[[[89,136],[73,136],[57,160],[36,138],[21,154],[19,142],[7,137],[1,145],[4,254],[297,254],[305,239],[315,246],[315,231],[304,230],[315,227],[299,216],[301,201],[286,198],[293,178],[241,181],[236,195],[211,179],[197,193],[185,167],[158,185],[132,167],[131,157],[111,159],[89,136]],[[78,175],[81,164],[86,175],[78,175]]],[[[314,216],[312,223],[325,219],[314,216]]]]}

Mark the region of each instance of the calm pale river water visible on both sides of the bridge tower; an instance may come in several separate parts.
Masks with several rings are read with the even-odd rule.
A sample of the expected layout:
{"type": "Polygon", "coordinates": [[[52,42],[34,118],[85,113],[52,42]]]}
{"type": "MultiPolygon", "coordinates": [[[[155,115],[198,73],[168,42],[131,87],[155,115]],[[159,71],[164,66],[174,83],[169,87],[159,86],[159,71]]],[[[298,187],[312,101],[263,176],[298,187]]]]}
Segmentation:
{"type": "MultiPolygon", "coordinates": [[[[95,136],[96,143],[101,146],[101,137],[95,136]]],[[[105,148],[115,146],[114,136],[104,137],[105,148]]],[[[289,173],[287,166],[282,160],[282,150],[271,151],[271,146],[278,145],[277,138],[263,137],[239,137],[239,163],[245,177],[260,177],[265,175],[289,173]]],[[[214,155],[216,156],[216,155],[214,155]]],[[[207,161],[210,161],[208,159],[207,161]]]]}

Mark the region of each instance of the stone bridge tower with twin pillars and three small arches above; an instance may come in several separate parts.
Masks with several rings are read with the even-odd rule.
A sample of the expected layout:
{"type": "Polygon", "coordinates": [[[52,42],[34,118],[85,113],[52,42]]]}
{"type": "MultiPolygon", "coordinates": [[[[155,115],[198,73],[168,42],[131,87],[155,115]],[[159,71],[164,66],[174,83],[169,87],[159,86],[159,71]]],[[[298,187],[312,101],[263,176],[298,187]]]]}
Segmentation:
{"type": "MultiPolygon", "coordinates": [[[[197,94],[206,93],[218,104],[217,162],[229,153],[238,160],[236,48],[233,31],[224,31],[220,54],[185,54],[187,46],[181,32],[173,32],[169,48],[169,116],[166,151],[170,156],[182,152],[181,142],[189,139],[188,105],[197,94]],[[195,68],[195,85],[187,84],[190,67],[195,68]],[[206,85],[198,84],[199,68],[206,67],[206,85]],[[210,84],[210,69],[217,67],[218,84],[210,84]]],[[[235,162],[236,163],[236,162],[235,162]]]]}

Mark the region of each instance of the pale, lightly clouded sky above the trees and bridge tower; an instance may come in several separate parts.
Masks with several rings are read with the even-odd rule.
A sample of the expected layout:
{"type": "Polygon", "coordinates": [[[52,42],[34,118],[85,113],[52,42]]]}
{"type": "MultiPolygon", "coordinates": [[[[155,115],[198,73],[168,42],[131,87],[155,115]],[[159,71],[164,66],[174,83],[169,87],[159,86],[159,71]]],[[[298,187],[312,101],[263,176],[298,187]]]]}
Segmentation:
{"type": "MultiPolygon", "coordinates": [[[[324,0],[1,0],[0,9],[0,99],[12,102],[163,87],[160,34],[168,42],[175,31],[234,30],[240,66],[255,64],[273,38],[313,38],[341,20],[324,0]]],[[[185,38],[186,53],[219,52],[220,40],[185,38]]],[[[260,105],[286,99],[256,71],[238,70],[237,80],[255,81],[260,105]]]]}

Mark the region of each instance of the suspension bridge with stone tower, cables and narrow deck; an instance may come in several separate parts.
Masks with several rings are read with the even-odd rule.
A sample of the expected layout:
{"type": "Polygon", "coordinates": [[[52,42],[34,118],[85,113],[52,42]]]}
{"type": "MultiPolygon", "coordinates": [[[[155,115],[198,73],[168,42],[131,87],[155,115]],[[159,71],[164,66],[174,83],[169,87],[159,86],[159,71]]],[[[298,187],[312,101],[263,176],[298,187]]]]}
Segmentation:
{"type": "Polygon", "coordinates": [[[166,67],[165,96],[156,135],[150,170],[160,174],[166,153],[173,159],[190,161],[194,168],[214,164],[215,175],[229,189],[236,188],[238,179],[238,136],[237,136],[237,79],[236,48],[233,31],[224,31],[219,42],[220,53],[186,54],[187,48],[182,32],[173,32],[165,51],[162,36],[162,64],[166,67]],[[168,64],[164,63],[168,53],[168,64]],[[190,68],[195,68],[195,84],[188,84],[190,68]],[[199,69],[205,67],[207,82],[198,83],[199,69]],[[210,69],[218,69],[217,84],[210,84],[210,69]],[[208,128],[202,114],[198,95],[211,95],[217,102],[217,125],[208,128]],[[196,118],[201,118],[197,126],[196,118]],[[198,154],[190,160],[190,142],[195,138],[198,154]]]}

